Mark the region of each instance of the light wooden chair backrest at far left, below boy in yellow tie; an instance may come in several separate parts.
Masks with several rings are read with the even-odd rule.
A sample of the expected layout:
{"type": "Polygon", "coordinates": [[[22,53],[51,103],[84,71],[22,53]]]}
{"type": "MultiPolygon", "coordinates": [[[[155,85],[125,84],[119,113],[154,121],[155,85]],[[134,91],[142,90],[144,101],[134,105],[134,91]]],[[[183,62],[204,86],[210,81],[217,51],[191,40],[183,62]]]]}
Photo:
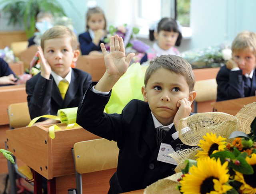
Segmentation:
{"type": "Polygon", "coordinates": [[[7,112],[10,128],[26,127],[31,121],[28,102],[10,104],[7,112]]]}

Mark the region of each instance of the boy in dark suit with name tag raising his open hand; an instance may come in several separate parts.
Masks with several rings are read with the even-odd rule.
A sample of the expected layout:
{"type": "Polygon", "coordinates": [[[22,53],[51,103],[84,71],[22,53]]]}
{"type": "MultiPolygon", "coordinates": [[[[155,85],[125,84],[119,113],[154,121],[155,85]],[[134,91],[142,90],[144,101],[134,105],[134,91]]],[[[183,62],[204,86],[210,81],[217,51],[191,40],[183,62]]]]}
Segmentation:
{"type": "Polygon", "coordinates": [[[112,87],[128,69],[134,53],[126,57],[124,42],[118,35],[110,38],[110,53],[103,43],[101,48],[106,73],[84,94],[76,122],[91,133],[117,142],[118,167],[108,193],[143,189],[175,173],[172,159],[161,158],[164,145],[173,151],[188,148],[178,138],[175,127],[178,129],[180,120],[190,115],[196,96],[195,77],[185,59],[175,55],[156,57],[146,70],[141,90],[144,102],[134,99],[122,114],[106,114],[104,107],[112,87]],[[159,127],[165,128],[161,131],[159,127]]]}

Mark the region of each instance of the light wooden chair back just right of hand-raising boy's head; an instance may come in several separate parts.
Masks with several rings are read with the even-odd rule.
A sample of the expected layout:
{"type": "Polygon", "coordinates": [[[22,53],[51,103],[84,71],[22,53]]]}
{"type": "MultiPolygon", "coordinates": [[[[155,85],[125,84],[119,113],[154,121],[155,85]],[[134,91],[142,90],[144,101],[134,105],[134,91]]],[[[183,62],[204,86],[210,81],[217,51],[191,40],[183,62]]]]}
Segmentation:
{"type": "Polygon", "coordinates": [[[198,112],[198,102],[213,101],[217,98],[217,82],[216,79],[207,79],[196,81],[194,85],[196,98],[194,100],[194,112],[198,112]]]}

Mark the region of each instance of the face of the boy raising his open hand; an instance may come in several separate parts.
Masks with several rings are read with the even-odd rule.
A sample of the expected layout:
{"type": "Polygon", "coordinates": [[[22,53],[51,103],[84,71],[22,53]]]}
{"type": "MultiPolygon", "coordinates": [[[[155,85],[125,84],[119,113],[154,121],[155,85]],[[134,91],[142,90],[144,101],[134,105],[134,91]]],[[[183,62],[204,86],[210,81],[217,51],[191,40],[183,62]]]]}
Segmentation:
{"type": "Polygon", "coordinates": [[[179,100],[186,98],[191,103],[194,100],[185,77],[164,68],[150,76],[146,88],[142,87],[142,94],[156,119],[163,125],[173,122],[179,100]]]}

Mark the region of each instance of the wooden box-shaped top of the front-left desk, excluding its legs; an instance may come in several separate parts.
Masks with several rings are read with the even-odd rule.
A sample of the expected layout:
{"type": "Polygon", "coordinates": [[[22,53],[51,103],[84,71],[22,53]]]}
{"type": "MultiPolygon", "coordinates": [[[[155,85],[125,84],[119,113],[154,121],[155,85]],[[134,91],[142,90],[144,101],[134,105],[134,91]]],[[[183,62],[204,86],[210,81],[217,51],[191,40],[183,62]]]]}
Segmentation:
{"type": "Polygon", "coordinates": [[[51,125],[37,125],[6,131],[8,150],[47,179],[74,174],[71,151],[74,143],[100,137],[82,127],[65,129],[66,124],[57,125],[62,130],[55,131],[54,139],[49,136],[51,125]]]}

